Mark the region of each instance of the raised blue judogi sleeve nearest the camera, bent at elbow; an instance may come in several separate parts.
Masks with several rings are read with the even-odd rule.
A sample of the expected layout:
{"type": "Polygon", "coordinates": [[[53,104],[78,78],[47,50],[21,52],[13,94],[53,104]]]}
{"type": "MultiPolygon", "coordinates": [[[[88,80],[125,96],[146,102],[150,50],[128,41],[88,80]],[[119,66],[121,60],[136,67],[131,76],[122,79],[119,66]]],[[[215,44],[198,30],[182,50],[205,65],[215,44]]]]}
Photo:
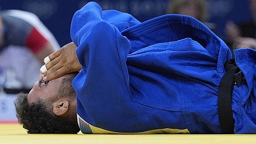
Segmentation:
{"type": "Polygon", "coordinates": [[[82,71],[73,81],[78,115],[91,125],[106,129],[111,129],[114,121],[135,117],[132,116],[135,109],[129,103],[125,63],[131,49],[128,39],[102,19],[102,10],[94,2],[74,14],[71,37],[78,46],[76,53],[82,65],[82,71]]]}

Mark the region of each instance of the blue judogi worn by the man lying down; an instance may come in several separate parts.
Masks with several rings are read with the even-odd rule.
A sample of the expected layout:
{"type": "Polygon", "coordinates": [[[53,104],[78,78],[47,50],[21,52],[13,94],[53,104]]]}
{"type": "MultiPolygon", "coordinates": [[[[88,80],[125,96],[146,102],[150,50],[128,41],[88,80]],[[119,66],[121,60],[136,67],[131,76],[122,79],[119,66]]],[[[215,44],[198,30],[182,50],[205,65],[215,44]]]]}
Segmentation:
{"type": "MultiPolygon", "coordinates": [[[[140,23],[90,2],[75,13],[71,37],[82,65],[73,87],[83,133],[221,133],[217,94],[232,54],[198,20],[140,23]]],[[[256,51],[235,57],[246,84],[234,86],[234,132],[256,133],[256,51]]]]}

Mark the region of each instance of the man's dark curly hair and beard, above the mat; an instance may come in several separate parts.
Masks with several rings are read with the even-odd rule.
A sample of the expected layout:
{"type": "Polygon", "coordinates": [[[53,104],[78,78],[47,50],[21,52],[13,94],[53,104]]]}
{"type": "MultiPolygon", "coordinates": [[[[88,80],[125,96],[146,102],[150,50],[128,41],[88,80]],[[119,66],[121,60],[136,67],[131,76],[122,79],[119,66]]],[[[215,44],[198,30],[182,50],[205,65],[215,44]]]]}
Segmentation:
{"type": "Polygon", "coordinates": [[[27,133],[78,133],[79,126],[76,117],[61,117],[52,112],[54,100],[65,96],[75,96],[72,80],[77,73],[64,75],[58,92],[50,100],[38,99],[35,103],[28,104],[28,94],[20,93],[14,104],[16,116],[27,133]]]}

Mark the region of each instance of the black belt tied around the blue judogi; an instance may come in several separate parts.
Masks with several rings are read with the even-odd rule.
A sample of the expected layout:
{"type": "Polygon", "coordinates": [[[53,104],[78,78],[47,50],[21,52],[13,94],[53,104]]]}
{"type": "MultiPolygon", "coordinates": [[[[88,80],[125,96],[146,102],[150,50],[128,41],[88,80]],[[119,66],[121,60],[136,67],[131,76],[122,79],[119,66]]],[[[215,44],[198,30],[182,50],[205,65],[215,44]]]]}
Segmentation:
{"type": "Polygon", "coordinates": [[[220,126],[224,134],[234,133],[234,119],[232,115],[232,92],[234,84],[240,87],[244,84],[244,74],[236,65],[234,58],[228,60],[224,64],[226,73],[220,81],[218,92],[218,110],[220,126]]]}

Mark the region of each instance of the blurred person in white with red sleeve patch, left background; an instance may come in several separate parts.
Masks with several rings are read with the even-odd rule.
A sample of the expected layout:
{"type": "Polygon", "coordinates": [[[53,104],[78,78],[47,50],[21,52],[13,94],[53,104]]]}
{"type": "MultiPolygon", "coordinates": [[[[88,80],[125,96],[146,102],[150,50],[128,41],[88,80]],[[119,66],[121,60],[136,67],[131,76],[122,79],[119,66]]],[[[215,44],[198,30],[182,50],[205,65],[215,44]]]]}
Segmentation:
{"type": "Polygon", "coordinates": [[[29,90],[46,56],[60,48],[35,14],[0,12],[0,88],[6,93],[29,90]],[[28,79],[29,78],[29,79],[28,79]]]}

